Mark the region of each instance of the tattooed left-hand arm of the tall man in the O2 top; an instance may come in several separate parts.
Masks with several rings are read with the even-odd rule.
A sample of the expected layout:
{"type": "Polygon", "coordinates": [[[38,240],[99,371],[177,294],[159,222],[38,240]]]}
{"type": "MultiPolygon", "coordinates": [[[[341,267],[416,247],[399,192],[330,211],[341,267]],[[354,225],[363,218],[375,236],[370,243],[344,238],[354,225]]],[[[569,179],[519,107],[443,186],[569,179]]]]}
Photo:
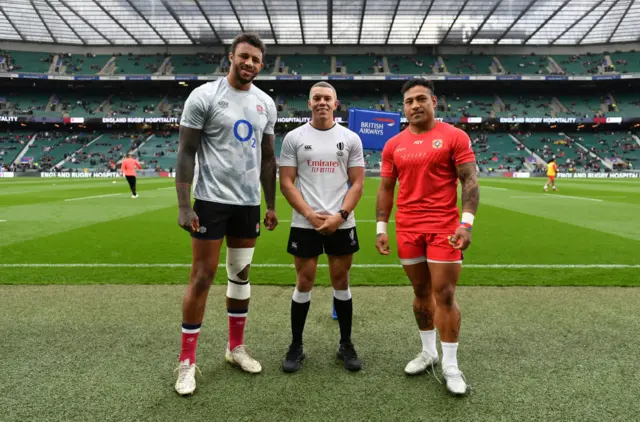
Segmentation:
{"type": "Polygon", "coordinates": [[[202,131],[180,126],[180,141],[176,163],[176,192],[178,194],[178,224],[187,231],[198,230],[198,216],[191,208],[191,183],[196,165],[196,152],[202,131]]]}

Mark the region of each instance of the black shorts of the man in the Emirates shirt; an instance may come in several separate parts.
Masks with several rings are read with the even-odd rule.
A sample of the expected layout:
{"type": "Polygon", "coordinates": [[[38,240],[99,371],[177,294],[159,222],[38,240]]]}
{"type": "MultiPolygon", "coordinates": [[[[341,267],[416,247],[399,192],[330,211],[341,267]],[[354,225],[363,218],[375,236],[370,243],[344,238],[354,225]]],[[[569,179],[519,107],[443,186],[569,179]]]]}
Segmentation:
{"type": "Polygon", "coordinates": [[[329,236],[318,233],[315,229],[291,227],[287,252],[298,258],[313,258],[322,255],[351,255],[360,250],[356,228],[338,229],[329,236]]]}

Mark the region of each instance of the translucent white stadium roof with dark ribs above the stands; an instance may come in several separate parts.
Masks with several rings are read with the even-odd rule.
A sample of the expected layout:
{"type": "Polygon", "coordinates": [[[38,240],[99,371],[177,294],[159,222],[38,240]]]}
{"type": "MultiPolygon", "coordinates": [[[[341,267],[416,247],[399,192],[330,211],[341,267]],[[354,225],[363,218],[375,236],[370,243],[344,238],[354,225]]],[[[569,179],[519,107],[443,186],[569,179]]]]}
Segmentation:
{"type": "MultiPolygon", "coordinates": [[[[89,45],[148,45],[158,40],[159,33],[167,46],[205,45],[212,40],[229,44],[238,30],[257,32],[275,44],[413,41],[418,45],[465,45],[486,41],[568,46],[639,40],[640,1],[636,0],[427,0],[428,8],[423,2],[423,9],[428,9],[425,15],[417,13],[419,3],[406,0],[286,0],[285,6],[263,0],[44,1],[74,22],[82,21],[83,38],[89,45]],[[292,4],[297,20],[291,19],[292,4]],[[256,15],[257,10],[264,12],[256,15]],[[582,20],[587,10],[592,19],[582,20]],[[566,31],[569,27],[571,31],[566,31]]],[[[55,31],[47,27],[48,11],[43,16],[32,1],[7,3],[1,17],[8,24],[0,26],[0,39],[51,40],[55,31]]],[[[76,41],[81,44],[81,40],[71,42],[76,41]]]]}

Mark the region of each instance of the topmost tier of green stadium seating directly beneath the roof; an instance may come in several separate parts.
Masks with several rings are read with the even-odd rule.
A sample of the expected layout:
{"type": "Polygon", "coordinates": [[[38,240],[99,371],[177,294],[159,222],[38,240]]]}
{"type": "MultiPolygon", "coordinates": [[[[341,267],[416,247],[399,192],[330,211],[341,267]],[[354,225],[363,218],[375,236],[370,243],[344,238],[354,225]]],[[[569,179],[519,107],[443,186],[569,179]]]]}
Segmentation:
{"type": "MultiPolygon", "coordinates": [[[[95,55],[0,51],[0,71],[62,73],[68,75],[209,75],[228,71],[226,55],[114,53],[95,55]],[[55,65],[52,66],[55,60],[55,65]]],[[[420,75],[449,73],[474,74],[556,74],[597,75],[640,72],[640,52],[580,55],[546,54],[449,54],[376,55],[370,54],[267,54],[264,74],[328,75],[331,73],[420,75]],[[277,65],[277,68],[276,68],[277,65]],[[557,66],[556,66],[557,65],[557,66]]]]}

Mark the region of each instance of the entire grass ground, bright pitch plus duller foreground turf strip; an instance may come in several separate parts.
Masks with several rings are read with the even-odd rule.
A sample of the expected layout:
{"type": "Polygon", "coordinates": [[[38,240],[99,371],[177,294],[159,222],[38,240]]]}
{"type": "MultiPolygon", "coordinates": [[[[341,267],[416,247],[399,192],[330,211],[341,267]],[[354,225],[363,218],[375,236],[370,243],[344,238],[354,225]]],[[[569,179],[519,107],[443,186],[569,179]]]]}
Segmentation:
{"type": "Polygon", "coordinates": [[[0,420],[636,420],[640,183],[557,183],[545,193],[544,179],[480,179],[457,293],[468,397],[403,373],[420,348],[412,293],[395,245],[389,257],[375,250],[371,178],[356,209],[351,275],[365,369],[349,374],[336,363],[323,267],[308,359],[293,376],[279,370],[295,280],[291,209],[279,196],[281,223],[263,230],[251,270],[246,338],[264,371],[224,363],[220,268],[199,341],[202,377],[193,397],[180,398],[172,370],[191,251],[173,181],[140,179],[132,199],[120,179],[0,179],[0,420]]]}

